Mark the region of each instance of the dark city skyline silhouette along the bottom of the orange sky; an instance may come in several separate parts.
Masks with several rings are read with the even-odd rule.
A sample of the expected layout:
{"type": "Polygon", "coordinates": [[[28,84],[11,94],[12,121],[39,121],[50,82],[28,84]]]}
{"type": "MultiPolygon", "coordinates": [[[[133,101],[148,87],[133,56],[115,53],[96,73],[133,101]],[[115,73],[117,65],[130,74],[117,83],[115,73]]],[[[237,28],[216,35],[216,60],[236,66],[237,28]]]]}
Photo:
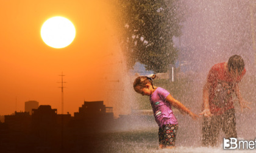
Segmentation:
{"type": "Polygon", "coordinates": [[[103,101],[84,101],[74,117],[40,105],[31,115],[5,115],[0,123],[0,152],[98,152],[95,144],[102,144],[98,137],[113,123],[113,107],[105,107],[103,101]]]}

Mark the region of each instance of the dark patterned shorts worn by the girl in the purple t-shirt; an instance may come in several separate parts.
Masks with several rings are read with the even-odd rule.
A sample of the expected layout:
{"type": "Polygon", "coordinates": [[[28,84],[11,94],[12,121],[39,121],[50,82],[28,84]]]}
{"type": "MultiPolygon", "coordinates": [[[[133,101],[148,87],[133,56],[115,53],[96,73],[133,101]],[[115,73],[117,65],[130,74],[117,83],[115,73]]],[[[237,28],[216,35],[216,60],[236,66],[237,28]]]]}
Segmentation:
{"type": "Polygon", "coordinates": [[[165,146],[175,146],[178,124],[166,124],[159,127],[158,138],[159,144],[165,146]]]}

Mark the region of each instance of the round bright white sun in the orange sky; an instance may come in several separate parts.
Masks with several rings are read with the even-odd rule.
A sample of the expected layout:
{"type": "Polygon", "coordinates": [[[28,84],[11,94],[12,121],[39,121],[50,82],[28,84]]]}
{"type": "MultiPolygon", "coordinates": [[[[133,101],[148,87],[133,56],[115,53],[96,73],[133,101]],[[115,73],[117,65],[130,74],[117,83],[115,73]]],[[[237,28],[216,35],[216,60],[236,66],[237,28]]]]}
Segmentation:
{"type": "Polygon", "coordinates": [[[69,46],[76,36],[76,29],[71,21],[62,16],[49,18],[41,27],[44,43],[55,49],[69,46]]]}

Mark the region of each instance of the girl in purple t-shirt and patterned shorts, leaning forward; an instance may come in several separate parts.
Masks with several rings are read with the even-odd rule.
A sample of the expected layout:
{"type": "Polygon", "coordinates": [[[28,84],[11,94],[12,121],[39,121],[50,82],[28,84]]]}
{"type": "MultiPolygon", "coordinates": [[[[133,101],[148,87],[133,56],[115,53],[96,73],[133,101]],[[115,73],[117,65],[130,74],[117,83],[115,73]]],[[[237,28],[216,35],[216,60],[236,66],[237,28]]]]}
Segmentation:
{"type": "Polygon", "coordinates": [[[194,120],[198,117],[193,114],[180,101],[174,99],[167,90],[153,86],[155,75],[137,77],[133,89],[141,95],[149,96],[154,112],[155,121],[159,126],[159,148],[174,148],[178,121],[174,116],[171,106],[189,114],[194,120]]]}

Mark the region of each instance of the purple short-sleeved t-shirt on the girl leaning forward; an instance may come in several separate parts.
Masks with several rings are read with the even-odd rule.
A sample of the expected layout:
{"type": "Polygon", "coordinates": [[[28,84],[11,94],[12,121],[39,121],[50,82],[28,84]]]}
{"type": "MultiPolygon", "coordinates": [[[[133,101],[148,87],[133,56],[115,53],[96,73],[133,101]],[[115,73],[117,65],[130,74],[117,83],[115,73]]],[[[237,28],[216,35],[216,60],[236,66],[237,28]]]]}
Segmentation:
{"type": "Polygon", "coordinates": [[[155,92],[153,92],[149,98],[155,121],[159,127],[165,124],[178,124],[178,121],[172,112],[171,104],[166,101],[168,95],[169,92],[167,90],[157,87],[155,92]]]}

